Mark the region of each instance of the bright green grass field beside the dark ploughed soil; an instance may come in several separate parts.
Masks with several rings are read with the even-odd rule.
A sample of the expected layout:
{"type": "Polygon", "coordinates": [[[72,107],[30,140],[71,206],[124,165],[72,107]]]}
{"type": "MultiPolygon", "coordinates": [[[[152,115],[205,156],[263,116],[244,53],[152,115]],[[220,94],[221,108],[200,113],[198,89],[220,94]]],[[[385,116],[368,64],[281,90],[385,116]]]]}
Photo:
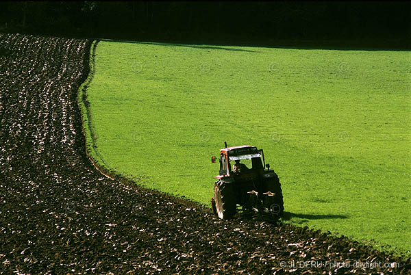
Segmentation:
{"type": "Polygon", "coordinates": [[[208,205],[211,155],[256,145],[290,222],[411,250],[410,52],[102,41],[96,53],[88,101],[106,167],[208,205]]]}

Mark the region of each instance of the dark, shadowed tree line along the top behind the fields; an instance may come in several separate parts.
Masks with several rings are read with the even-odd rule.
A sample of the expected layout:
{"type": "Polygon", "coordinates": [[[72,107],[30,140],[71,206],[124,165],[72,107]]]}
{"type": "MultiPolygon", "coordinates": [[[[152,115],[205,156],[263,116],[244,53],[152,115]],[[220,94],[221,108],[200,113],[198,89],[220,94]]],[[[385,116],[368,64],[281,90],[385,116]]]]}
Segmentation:
{"type": "Polygon", "coordinates": [[[408,44],[409,2],[1,2],[0,31],[186,42],[408,44]]]}

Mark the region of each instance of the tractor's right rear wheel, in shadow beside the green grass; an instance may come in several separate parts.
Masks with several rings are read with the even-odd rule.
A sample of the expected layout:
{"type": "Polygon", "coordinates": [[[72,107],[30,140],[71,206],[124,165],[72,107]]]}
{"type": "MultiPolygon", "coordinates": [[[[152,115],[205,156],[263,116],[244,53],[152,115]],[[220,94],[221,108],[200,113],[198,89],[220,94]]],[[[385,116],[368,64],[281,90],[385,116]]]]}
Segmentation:
{"type": "Polygon", "coordinates": [[[264,182],[264,193],[269,192],[273,195],[264,195],[262,202],[272,215],[281,216],[284,212],[284,201],[282,196],[281,183],[277,174],[274,173],[273,179],[264,182]]]}

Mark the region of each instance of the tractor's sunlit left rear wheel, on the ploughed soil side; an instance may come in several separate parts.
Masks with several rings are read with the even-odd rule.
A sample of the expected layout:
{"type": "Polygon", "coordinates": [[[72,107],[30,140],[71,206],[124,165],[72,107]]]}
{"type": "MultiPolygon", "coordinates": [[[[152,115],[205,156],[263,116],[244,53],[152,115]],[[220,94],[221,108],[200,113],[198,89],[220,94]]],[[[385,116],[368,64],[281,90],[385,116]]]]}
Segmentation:
{"type": "Polygon", "coordinates": [[[229,220],[236,214],[236,194],[232,185],[218,181],[214,185],[214,202],[219,218],[229,220]]]}

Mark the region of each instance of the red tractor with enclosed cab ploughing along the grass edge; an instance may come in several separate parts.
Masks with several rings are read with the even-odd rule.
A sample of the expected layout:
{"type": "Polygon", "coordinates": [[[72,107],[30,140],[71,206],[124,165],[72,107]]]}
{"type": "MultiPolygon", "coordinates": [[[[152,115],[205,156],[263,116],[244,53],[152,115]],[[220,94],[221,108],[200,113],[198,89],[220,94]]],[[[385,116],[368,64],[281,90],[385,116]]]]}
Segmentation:
{"type": "Polygon", "coordinates": [[[254,211],[274,219],[282,215],[281,183],[269,163],[265,163],[262,149],[249,145],[228,147],[225,142],[220,157],[211,157],[212,163],[217,159],[220,172],[215,176],[217,181],[211,198],[215,215],[223,220],[231,219],[237,213],[237,205],[242,211],[254,211]]]}

